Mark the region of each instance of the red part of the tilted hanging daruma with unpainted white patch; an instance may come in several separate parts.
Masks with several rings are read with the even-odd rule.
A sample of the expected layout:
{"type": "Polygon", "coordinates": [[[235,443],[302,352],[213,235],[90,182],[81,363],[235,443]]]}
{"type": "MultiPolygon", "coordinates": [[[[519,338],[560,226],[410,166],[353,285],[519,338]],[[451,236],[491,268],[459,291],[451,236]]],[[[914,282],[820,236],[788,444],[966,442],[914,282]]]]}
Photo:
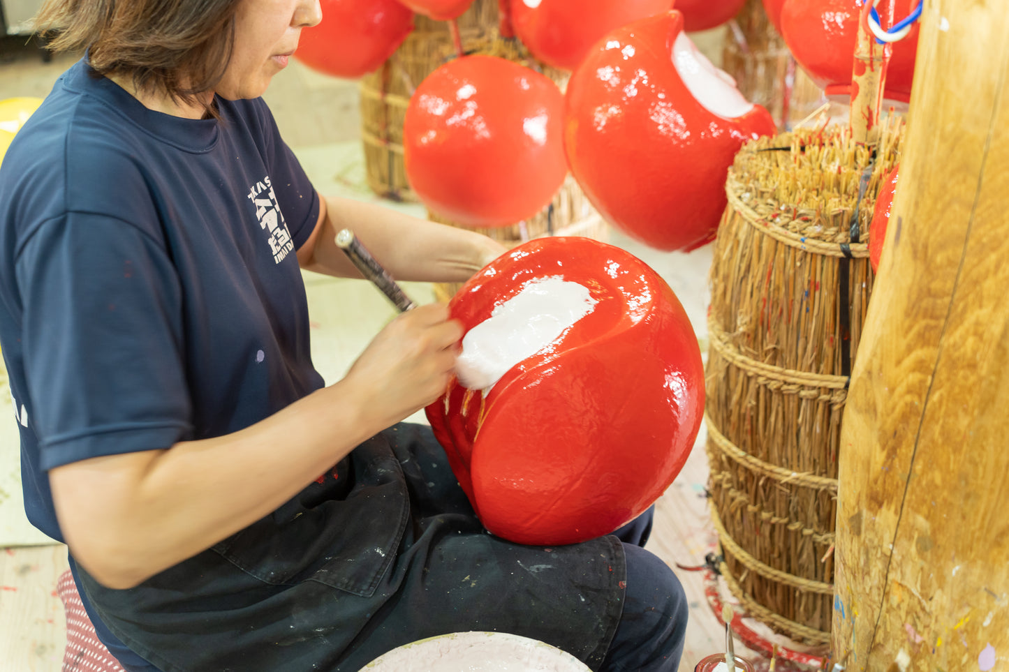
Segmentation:
{"type": "Polygon", "coordinates": [[[776,130],[759,105],[726,119],[694,99],[672,62],[682,29],[673,10],[610,32],[572,75],[565,109],[568,164],[592,205],[662,250],[714,239],[736,152],[776,130]]]}

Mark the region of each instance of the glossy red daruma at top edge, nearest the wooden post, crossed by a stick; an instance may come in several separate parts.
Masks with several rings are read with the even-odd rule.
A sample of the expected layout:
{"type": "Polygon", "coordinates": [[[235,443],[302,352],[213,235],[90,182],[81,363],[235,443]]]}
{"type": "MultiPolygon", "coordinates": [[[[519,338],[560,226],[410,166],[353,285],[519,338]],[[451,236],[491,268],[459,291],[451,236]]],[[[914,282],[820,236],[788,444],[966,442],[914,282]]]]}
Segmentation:
{"type": "MultiPolygon", "coordinates": [[[[898,19],[907,16],[917,2],[896,0],[894,15],[898,19]]],[[[884,4],[880,3],[878,9],[884,4]]],[[[782,3],[781,35],[795,61],[822,89],[843,93],[851,86],[860,8],[857,0],[784,0],[782,3]]],[[[879,44],[876,46],[883,48],[879,44]]],[[[910,99],[917,49],[918,24],[915,23],[907,37],[893,45],[886,71],[886,98],[904,102],[910,99]]]]}

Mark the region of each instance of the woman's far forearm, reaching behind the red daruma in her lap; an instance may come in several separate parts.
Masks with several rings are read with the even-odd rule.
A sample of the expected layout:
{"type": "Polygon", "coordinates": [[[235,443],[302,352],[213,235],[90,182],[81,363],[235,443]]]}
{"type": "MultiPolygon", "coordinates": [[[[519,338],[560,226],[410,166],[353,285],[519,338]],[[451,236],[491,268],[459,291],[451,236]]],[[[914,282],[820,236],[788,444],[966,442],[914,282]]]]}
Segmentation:
{"type": "Polygon", "coordinates": [[[314,241],[310,270],[359,276],[336,245],[349,228],[399,281],[458,283],[485,266],[506,248],[480,233],[437,224],[372,203],[327,198],[326,215],[314,241]]]}

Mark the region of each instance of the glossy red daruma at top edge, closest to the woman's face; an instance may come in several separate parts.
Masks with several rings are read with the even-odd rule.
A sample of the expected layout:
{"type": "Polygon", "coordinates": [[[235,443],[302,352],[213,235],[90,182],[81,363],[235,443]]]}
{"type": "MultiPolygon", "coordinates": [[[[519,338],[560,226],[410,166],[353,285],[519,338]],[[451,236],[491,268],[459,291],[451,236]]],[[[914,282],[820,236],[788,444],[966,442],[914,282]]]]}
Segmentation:
{"type": "Polygon", "coordinates": [[[376,70],[414,29],[414,13],[397,0],[321,0],[322,21],[302,30],[295,58],[333,77],[376,70]]]}

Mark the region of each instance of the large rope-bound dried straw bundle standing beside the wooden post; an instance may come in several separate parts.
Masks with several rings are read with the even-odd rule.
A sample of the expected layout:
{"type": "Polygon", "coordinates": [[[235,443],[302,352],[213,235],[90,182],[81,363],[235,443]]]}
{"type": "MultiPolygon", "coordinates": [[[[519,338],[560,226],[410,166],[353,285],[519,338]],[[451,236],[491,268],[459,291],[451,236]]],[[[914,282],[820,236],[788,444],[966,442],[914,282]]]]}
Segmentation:
{"type": "Polygon", "coordinates": [[[902,132],[901,119],[884,120],[875,160],[847,126],[746,145],[715,242],[706,421],[721,567],[751,615],[811,645],[829,641],[840,421],[873,284],[868,227],[902,132]]]}

